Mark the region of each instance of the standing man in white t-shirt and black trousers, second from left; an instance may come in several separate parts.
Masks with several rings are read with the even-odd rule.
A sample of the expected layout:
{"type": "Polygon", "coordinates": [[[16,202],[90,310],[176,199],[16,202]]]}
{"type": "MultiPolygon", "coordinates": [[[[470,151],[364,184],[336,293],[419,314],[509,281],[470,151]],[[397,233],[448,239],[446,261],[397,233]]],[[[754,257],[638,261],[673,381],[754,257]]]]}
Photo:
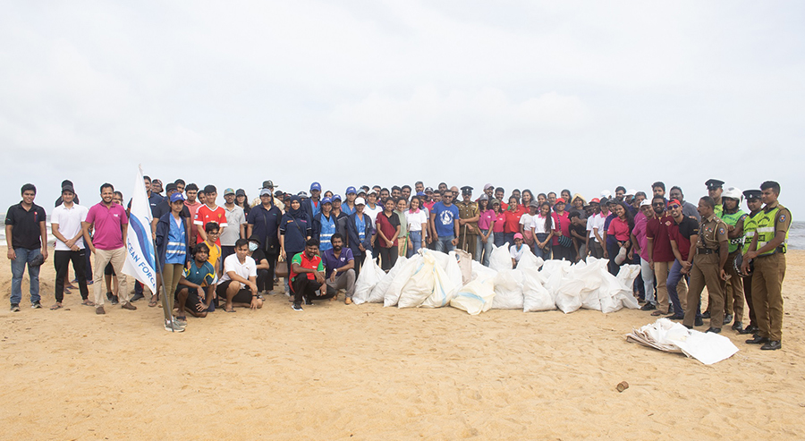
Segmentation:
{"type": "Polygon", "coordinates": [[[84,249],[83,231],[81,222],[87,220],[89,209],[73,203],[75,191],[72,185],[65,185],[62,188],[62,205],[53,209],[50,216],[50,227],[56,238],[55,251],[53,253],[53,263],[56,270],[55,280],[55,305],[51,310],[62,308],[64,301],[64,281],[67,278],[67,270],[72,261],[72,270],[75,271],[75,278],[78,280],[81,293],[82,305],[95,306],[89,300],[89,289],[87,288],[87,276],[84,270],[87,266],[87,255],[84,249]]]}

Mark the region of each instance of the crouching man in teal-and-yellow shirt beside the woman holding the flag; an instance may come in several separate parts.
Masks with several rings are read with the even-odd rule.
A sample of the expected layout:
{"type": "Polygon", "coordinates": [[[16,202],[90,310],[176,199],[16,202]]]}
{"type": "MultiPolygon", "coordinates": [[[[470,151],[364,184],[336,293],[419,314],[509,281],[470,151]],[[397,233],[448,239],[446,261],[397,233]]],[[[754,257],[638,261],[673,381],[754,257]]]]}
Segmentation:
{"type": "Polygon", "coordinates": [[[207,313],[216,308],[212,301],[218,278],[216,268],[207,261],[208,257],[209,247],[206,243],[201,242],[193,247],[193,262],[184,268],[179,289],[176,290],[176,305],[179,307],[176,320],[179,322],[187,320],[185,308],[191,316],[198,318],[207,317],[207,313]]]}

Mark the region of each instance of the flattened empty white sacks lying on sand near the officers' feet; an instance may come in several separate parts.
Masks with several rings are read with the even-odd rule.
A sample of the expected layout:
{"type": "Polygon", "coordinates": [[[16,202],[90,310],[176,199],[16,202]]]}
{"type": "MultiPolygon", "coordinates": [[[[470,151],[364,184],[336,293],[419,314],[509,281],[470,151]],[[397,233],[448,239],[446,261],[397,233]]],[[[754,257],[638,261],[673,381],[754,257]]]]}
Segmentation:
{"type": "Polygon", "coordinates": [[[631,334],[626,335],[626,341],[665,352],[682,352],[704,364],[726,360],[738,352],[738,347],[724,335],[688,329],[667,318],[659,318],[653,324],[632,329],[631,334]]]}

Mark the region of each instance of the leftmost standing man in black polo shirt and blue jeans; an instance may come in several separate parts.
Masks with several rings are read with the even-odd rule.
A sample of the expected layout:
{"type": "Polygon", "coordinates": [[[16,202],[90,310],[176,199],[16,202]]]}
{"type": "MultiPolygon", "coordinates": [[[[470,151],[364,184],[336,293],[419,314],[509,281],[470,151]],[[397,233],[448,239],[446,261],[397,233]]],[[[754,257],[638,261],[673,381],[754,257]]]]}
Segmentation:
{"type": "Polygon", "coordinates": [[[28,264],[30,278],[30,307],[42,308],[39,303],[39,266],[47,259],[47,228],[45,208],[33,203],[37,188],[32,183],[22,186],[22,200],[5,212],[5,244],[12,261],[11,310],[20,310],[22,274],[28,264]]]}

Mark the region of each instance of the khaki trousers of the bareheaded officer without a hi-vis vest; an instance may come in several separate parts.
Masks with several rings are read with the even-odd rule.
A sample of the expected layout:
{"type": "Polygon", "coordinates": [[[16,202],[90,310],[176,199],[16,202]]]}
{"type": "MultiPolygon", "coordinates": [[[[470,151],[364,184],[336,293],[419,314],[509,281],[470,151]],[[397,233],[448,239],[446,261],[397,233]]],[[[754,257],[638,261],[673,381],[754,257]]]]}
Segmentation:
{"type": "Polygon", "coordinates": [[[685,308],[687,327],[692,327],[696,318],[696,310],[701,301],[701,292],[708,287],[708,310],[710,310],[710,327],[721,329],[724,325],[724,280],[721,279],[721,267],[718,265],[718,254],[697,254],[691,267],[691,285],[688,287],[688,304],[685,308]]]}

